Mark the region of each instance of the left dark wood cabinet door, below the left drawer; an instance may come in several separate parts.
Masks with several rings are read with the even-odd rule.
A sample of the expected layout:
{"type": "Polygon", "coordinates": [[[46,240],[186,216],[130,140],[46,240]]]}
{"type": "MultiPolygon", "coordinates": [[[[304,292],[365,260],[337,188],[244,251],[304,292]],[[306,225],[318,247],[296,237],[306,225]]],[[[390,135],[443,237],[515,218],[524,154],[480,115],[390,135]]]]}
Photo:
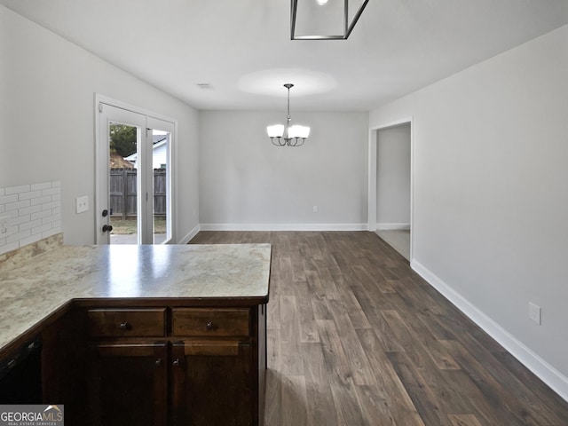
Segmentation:
{"type": "Polygon", "coordinates": [[[168,344],[91,345],[89,406],[97,426],[166,426],[168,344]]]}

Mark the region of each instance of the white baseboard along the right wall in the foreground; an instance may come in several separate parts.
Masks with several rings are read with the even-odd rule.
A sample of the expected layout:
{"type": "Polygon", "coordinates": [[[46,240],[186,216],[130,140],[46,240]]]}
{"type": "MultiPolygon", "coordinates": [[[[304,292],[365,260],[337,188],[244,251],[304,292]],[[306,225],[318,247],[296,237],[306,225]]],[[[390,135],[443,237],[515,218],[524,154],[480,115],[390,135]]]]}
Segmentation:
{"type": "Polygon", "coordinates": [[[561,398],[568,401],[568,377],[562,375],[555,367],[548,364],[547,361],[541,359],[539,355],[527,348],[524,343],[520,342],[514,335],[501,327],[493,319],[481,312],[469,300],[461,296],[451,286],[446,284],[439,277],[430,272],[428,268],[419,262],[413,260],[410,263],[411,268],[418,273],[424,280],[436,288],[443,296],[454,304],[461,312],[474,321],[477,326],[483,328],[488,335],[491,335],[498,343],[501,344],[511,355],[518,359],[525,367],[537,375],[540,380],[547,383],[561,398]]]}

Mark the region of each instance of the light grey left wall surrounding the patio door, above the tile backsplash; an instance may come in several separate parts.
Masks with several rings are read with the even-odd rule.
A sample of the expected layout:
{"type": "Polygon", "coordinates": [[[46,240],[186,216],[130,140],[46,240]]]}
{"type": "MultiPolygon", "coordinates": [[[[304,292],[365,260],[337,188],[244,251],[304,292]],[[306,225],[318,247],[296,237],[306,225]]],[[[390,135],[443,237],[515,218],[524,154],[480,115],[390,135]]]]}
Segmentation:
{"type": "Polygon", "coordinates": [[[67,243],[94,243],[94,93],[178,121],[175,240],[198,225],[197,112],[0,6],[0,186],[60,181],[67,243]],[[75,215],[75,198],[91,209],[75,215]]]}

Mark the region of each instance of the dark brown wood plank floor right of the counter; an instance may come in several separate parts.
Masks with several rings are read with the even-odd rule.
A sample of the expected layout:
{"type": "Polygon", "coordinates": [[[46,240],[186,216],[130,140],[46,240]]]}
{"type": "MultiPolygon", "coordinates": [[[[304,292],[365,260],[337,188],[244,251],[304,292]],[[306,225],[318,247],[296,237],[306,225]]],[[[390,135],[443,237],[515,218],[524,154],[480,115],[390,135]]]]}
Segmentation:
{"type": "Polygon", "coordinates": [[[568,403],[375,233],[201,232],[272,244],[267,426],[568,425],[568,403]]]}

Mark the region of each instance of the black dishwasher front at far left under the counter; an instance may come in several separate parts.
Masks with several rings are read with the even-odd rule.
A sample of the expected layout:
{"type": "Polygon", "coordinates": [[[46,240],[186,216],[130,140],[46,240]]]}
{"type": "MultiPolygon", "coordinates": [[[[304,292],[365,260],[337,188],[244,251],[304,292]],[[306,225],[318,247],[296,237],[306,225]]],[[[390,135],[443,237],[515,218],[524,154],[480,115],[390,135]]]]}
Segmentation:
{"type": "Polygon", "coordinates": [[[0,404],[42,402],[42,342],[37,337],[0,360],[0,404]]]}

